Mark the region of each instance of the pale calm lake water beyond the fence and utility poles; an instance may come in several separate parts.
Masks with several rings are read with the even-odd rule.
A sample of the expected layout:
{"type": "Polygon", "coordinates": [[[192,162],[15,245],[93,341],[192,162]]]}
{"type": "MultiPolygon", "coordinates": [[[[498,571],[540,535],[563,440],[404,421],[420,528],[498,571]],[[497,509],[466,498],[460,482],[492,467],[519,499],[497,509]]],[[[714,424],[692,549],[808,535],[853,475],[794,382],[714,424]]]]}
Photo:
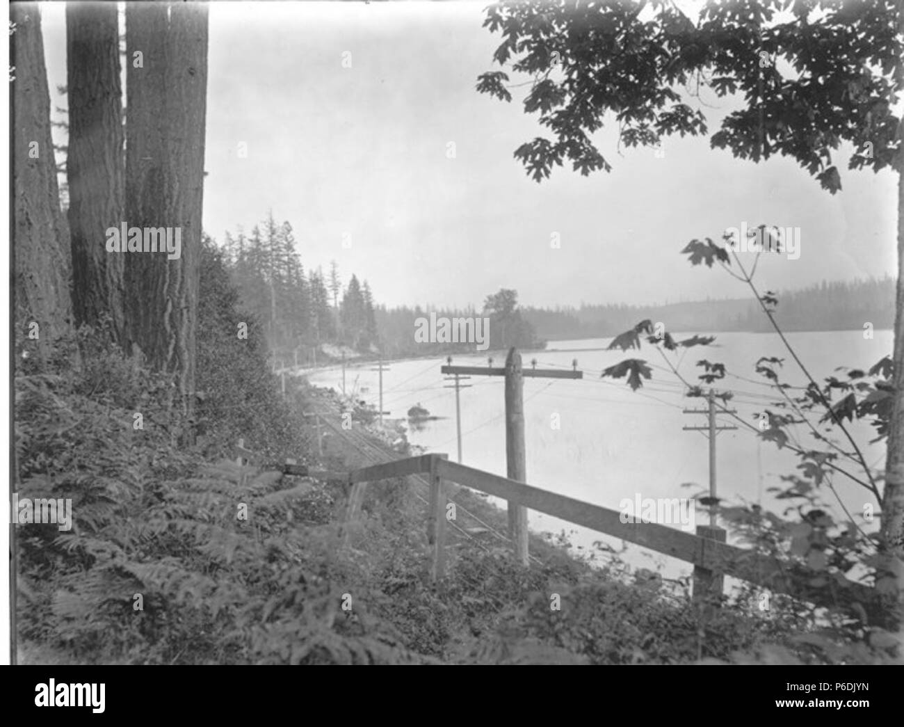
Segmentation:
{"type": "MultiPolygon", "coordinates": [[[[675,337],[680,339],[684,335],[675,337]]],[[[890,331],[876,331],[871,340],[864,339],[861,331],[795,333],[787,337],[817,382],[833,374],[837,366],[869,368],[890,354],[892,343],[890,331]]],[[[610,340],[557,341],[550,344],[554,350],[523,353],[525,368],[536,358],[538,368],[565,370],[577,358],[578,368],[584,372],[584,379],[578,381],[524,380],[528,483],[612,509],[619,509],[624,498],[702,496],[709,486],[706,434],[685,431],[682,427],[703,426],[706,416],[686,414],[682,410],[704,409],[706,401],[683,396],[683,385],[652,346],[645,345],[641,351],[630,353],[601,350],[610,340]],[[645,359],[653,367],[653,378],[645,381],[644,388],[637,392],[632,392],[624,379],[600,378],[602,369],[629,357],[645,359]],[[560,429],[553,428],[556,418],[560,429]],[[687,483],[692,485],[684,486],[687,483]]],[[[494,366],[504,364],[504,353],[493,355],[494,366]]],[[[805,384],[803,373],[778,336],[772,334],[719,334],[713,345],[685,349],[683,357],[679,352],[673,361],[689,381],[696,381],[700,369],[695,363],[700,359],[725,363],[727,371],[737,377],[727,376],[717,382],[717,388],[735,392],[730,408],[756,424],[756,413],[766,407],[777,411],[775,402],[780,399],[776,390],[761,383],[765,380],[754,371],[760,356],[785,358],[782,380],[796,386],[805,384]]],[[[442,417],[416,429],[409,426],[409,439],[428,451],[446,452],[455,460],[455,392],[443,388],[444,384],[450,384],[439,373],[444,363],[445,358],[438,357],[388,364],[389,371],[383,373],[383,409],[391,411],[393,418],[405,418],[408,409],[419,403],[432,415],[442,417]]],[[[487,365],[486,354],[458,355],[453,363],[487,365]]],[[[370,371],[371,366],[350,366],[346,371],[346,386],[349,391],[356,387],[359,399],[376,405],[377,373],[370,371]]],[[[836,375],[841,377],[843,373],[836,375]]],[[[339,370],[311,373],[308,378],[318,386],[334,387],[337,391],[341,388],[339,370]]],[[[505,475],[503,378],[475,376],[463,383],[471,388],[461,392],[462,462],[505,475]]],[[[718,495],[729,505],[757,503],[781,513],[792,501],[777,501],[767,490],[781,485],[779,477],[794,472],[799,460],[793,453],[759,440],[752,431],[732,422],[728,415],[720,415],[719,420],[737,424],[739,430],[723,431],[717,437],[718,495]]],[[[855,438],[868,463],[871,467],[883,467],[884,446],[868,443],[874,437],[873,431],[868,426],[854,427],[855,438]]],[[[815,445],[805,428],[798,428],[797,439],[805,447],[815,445]]],[[[843,477],[834,477],[834,485],[854,515],[862,513],[865,503],[873,503],[862,487],[843,477]]],[[[824,498],[826,509],[835,517],[845,519],[827,489],[824,498]]],[[[592,548],[594,541],[620,547],[617,539],[549,515],[531,512],[529,522],[531,529],[538,533],[570,533],[571,543],[583,552],[592,548]]],[[[707,522],[707,515],[698,509],[696,524],[707,522]]],[[[865,524],[862,527],[871,529],[865,524]]],[[[686,563],[637,546],[630,546],[625,558],[636,567],[659,570],[670,578],[691,571],[686,563]]]]}

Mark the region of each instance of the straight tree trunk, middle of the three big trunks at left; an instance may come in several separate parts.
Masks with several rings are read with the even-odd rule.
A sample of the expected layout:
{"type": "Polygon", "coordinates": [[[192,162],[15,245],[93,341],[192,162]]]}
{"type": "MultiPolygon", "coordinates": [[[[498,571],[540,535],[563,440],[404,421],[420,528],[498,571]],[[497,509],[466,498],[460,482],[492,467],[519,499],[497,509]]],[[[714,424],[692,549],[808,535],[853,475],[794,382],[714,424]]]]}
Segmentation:
{"type": "Polygon", "coordinates": [[[69,226],[76,325],[108,314],[121,342],[123,258],[105,231],[123,220],[122,91],[116,3],[66,6],[69,226]]]}

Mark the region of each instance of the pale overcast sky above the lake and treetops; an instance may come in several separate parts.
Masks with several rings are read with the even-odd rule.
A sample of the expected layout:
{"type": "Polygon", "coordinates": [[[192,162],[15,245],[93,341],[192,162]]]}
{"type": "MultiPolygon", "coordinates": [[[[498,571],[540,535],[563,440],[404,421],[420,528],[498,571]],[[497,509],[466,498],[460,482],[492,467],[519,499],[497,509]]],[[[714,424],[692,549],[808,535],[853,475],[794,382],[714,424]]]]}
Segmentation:
{"type": "MultiPolygon", "coordinates": [[[[742,222],[799,228],[799,258],[762,261],[760,289],[894,274],[897,178],[846,171],[849,146],[831,195],[791,160],[738,161],[707,137],[666,138],[662,158],[619,150],[610,118],[594,139],[611,173],[564,165],[537,184],[513,158],[546,136],[528,89],[512,103],[475,90],[498,68],[485,5],[212,3],[205,231],[222,241],[272,210],[306,268],[336,260],[389,306],[479,309],[499,288],[546,307],[743,297],[680,254],[742,222]]],[[[42,17],[62,106],[62,5],[42,17]]],[[[704,98],[712,132],[730,100],[704,98]]]]}

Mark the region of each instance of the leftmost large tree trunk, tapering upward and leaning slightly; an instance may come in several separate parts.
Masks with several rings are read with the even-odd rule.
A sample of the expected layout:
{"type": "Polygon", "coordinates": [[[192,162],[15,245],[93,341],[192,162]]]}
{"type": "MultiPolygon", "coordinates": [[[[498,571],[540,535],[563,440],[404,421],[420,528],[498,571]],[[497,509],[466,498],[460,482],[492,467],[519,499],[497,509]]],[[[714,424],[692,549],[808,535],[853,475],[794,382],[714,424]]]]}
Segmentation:
{"type": "Polygon", "coordinates": [[[50,93],[37,5],[10,5],[15,321],[38,324],[38,350],[71,331],[69,239],[60,212],[51,138],[50,93]]]}

